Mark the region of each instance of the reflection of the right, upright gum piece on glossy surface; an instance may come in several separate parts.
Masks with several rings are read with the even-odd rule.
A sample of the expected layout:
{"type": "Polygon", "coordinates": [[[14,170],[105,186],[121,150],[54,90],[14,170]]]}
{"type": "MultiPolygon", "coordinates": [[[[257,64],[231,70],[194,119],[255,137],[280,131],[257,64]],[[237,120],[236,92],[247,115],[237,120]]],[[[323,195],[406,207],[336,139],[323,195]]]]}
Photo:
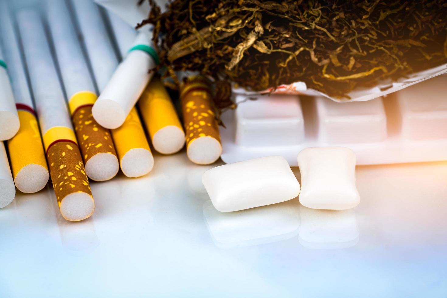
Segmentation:
{"type": "Polygon", "coordinates": [[[299,207],[299,243],[306,248],[349,248],[358,242],[354,210],[299,207]]]}

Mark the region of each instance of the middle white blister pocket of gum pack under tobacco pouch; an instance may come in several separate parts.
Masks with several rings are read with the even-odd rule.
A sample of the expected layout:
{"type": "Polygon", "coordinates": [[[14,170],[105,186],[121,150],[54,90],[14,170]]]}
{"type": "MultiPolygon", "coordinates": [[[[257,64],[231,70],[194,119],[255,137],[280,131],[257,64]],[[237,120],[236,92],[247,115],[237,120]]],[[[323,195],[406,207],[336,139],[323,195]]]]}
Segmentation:
{"type": "Polygon", "coordinates": [[[322,143],[368,143],[387,137],[387,120],[382,98],[337,103],[315,98],[318,138],[322,143]]]}

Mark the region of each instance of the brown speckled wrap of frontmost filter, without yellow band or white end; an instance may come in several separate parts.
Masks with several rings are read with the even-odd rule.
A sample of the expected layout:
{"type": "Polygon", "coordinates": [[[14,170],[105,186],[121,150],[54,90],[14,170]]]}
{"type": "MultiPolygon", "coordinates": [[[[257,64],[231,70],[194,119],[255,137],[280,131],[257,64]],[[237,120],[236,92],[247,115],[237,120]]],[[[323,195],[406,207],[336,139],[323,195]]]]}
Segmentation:
{"type": "Polygon", "coordinates": [[[48,148],[46,157],[59,206],[70,193],[84,192],[92,196],[80,154],[78,146],[68,141],[54,143],[48,148]]]}

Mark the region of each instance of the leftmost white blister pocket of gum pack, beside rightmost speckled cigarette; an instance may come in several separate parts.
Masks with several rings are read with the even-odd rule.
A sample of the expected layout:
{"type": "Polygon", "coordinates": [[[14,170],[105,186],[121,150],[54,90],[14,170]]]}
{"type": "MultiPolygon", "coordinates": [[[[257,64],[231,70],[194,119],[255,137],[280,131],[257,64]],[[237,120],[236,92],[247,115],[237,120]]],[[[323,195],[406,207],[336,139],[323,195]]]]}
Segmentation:
{"type": "MultiPolygon", "coordinates": [[[[246,96],[236,97],[236,102],[246,96]]],[[[304,120],[295,95],[264,95],[236,109],[236,143],[243,146],[287,146],[304,141],[304,120]]]]}

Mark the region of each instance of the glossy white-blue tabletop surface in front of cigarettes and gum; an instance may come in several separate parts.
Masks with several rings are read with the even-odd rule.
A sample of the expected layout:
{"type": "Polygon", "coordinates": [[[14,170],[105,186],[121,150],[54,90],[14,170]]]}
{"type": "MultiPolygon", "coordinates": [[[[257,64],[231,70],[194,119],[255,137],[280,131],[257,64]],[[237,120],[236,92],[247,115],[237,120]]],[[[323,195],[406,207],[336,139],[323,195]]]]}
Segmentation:
{"type": "Polygon", "coordinates": [[[447,162],[357,167],[352,210],[228,216],[209,209],[212,167],[156,154],[147,176],[92,182],[83,222],[49,189],[18,193],[0,210],[0,297],[445,297],[447,162]]]}

